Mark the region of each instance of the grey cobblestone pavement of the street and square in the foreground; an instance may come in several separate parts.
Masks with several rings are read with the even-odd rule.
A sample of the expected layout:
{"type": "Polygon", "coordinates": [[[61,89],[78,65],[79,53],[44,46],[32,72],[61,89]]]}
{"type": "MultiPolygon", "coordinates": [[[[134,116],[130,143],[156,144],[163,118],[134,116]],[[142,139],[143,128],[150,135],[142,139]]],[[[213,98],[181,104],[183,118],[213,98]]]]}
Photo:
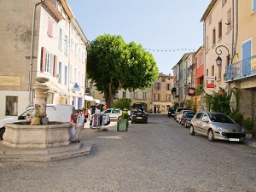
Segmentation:
{"type": "Polygon", "coordinates": [[[256,191],[256,148],[190,136],[167,115],[128,131],[83,131],[89,156],[0,164],[0,191],[256,191]]]}

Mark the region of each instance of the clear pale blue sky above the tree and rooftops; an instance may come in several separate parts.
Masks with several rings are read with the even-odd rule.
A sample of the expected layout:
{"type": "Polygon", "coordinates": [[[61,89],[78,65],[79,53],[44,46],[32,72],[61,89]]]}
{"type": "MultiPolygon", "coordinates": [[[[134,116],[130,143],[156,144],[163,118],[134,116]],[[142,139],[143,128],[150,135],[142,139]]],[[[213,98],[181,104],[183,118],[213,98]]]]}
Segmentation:
{"type": "Polygon", "coordinates": [[[211,0],[67,0],[89,41],[121,35],[154,56],[160,73],[203,44],[201,17],[211,0]]]}

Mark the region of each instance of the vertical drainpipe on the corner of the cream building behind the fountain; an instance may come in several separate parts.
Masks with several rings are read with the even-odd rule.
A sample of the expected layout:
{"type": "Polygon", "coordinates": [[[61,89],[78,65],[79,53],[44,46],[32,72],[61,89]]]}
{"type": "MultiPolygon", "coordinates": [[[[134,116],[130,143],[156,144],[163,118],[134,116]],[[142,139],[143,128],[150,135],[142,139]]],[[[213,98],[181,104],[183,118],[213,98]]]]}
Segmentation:
{"type": "Polygon", "coordinates": [[[32,40],[31,40],[31,53],[30,53],[30,69],[29,69],[29,105],[32,105],[32,64],[33,64],[33,50],[34,50],[34,35],[35,35],[35,17],[36,17],[36,8],[39,4],[44,3],[44,0],[41,2],[36,3],[33,9],[33,16],[32,16],[32,40]]]}

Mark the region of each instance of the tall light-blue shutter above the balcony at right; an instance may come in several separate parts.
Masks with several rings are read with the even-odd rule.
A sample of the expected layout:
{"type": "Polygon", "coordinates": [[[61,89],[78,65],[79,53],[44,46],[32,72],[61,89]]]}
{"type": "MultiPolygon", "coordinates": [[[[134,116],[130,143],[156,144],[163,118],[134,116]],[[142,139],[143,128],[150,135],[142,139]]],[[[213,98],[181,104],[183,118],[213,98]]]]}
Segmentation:
{"type": "Polygon", "coordinates": [[[241,45],[242,48],[242,75],[248,75],[251,73],[251,60],[250,58],[252,51],[252,41],[249,40],[246,43],[241,45]]]}

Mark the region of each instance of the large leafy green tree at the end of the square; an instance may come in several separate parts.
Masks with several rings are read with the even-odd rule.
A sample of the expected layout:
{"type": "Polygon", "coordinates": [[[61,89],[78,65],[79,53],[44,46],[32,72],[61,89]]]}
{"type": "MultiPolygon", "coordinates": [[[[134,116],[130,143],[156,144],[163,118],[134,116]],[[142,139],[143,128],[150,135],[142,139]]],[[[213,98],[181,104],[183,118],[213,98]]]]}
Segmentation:
{"type": "Polygon", "coordinates": [[[141,44],[126,44],[119,35],[104,34],[90,43],[87,76],[112,107],[118,90],[147,89],[159,72],[154,56],[141,44]]]}

